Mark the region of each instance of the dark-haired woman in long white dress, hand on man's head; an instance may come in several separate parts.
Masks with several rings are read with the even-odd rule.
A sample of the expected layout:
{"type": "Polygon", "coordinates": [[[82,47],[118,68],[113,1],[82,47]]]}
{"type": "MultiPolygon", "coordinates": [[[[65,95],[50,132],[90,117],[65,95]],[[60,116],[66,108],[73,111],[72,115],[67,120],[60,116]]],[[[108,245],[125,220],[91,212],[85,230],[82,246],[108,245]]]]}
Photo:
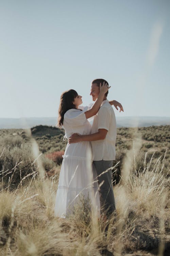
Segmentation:
{"type": "MultiPolygon", "coordinates": [[[[110,87],[108,87],[107,83],[103,83],[102,86],[100,84],[98,99],[89,110],[88,107],[83,110],[79,109],[79,105],[82,104],[82,96],[78,95],[76,91],[69,90],[61,95],[58,126],[60,128],[64,127],[67,139],[73,133],[90,134],[91,125],[87,119],[97,114],[104,94],[110,87]]],[[[89,156],[90,153],[90,142],[67,144],[58,181],[54,209],[55,216],[65,217],[74,204],[78,202],[79,195],[90,196],[93,187],[92,179],[96,178],[95,171],[93,170],[91,174],[91,168],[89,168],[92,163],[89,156]],[[91,176],[93,176],[92,179],[91,176]]],[[[97,183],[95,184],[97,186],[97,183]]],[[[95,204],[98,212],[100,212],[98,193],[96,193],[95,204]]]]}

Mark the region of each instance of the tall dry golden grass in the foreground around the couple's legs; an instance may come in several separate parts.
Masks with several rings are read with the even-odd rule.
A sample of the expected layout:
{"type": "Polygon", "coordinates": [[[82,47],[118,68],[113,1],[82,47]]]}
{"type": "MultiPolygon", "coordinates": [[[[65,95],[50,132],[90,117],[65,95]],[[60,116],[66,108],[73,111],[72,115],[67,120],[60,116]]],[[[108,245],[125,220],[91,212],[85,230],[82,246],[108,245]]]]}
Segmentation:
{"type": "Polygon", "coordinates": [[[19,186],[10,190],[10,184],[2,186],[0,176],[0,255],[109,255],[108,251],[126,255],[154,248],[163,255],[170,203],[169,177],[160,159],[155,165],[152,157],[148,164],[143,159],[143,167],[137,170],[132,167],[136,166],[135,150],[126,156],[131,164],[114,187],[116,218],[98,219],[89,211],[88,200],[82,199],[62,219],[54,217],[58,174],[46,175],[35,141],[32,145],[37,172],[27,183],[21,178],[19,186]]]}

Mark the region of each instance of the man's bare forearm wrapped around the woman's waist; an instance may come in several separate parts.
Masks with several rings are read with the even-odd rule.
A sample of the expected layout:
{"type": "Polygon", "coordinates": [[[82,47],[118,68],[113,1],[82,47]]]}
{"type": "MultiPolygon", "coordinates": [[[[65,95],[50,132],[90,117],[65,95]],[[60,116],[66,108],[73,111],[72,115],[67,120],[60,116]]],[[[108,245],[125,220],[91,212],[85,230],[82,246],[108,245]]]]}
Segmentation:
{"type": "Polygon", "coordinates": [[[105,129],[99,129],[97,133],[89,134],[89,135],[79,135],[78,133],[74,133],[71,135],[71,137],[68,139],[68,143],[78,143],[81,141],[95,141],[95,140],[101,140],[105,139],[107,134],[107,130],[105,129]]]}

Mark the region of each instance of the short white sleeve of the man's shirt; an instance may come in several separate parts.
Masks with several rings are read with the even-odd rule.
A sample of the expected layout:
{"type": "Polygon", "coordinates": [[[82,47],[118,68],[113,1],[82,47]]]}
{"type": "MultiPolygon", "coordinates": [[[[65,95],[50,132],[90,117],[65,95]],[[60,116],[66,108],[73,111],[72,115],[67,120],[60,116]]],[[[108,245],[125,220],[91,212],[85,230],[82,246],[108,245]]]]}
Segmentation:
{"type": "Polygon", "coordinates": [[[98,111],[98,130],[105,129],[109,130],[109,125],[111,123],[111,114],[106,107],[102,107],[98,111]]]}

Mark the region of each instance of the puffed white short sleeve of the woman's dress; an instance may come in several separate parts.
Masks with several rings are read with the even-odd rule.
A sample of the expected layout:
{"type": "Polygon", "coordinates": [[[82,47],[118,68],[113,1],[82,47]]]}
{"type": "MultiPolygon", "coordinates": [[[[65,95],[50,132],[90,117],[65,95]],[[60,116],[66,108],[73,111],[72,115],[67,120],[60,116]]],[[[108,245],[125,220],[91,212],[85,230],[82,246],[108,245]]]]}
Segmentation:
{"type": "Polygon", "coordinates": [[[84,111],[78,109],[69,109],[64,115],[64,120],[72,126],[82,125],[87,121],[84,111]]]}

